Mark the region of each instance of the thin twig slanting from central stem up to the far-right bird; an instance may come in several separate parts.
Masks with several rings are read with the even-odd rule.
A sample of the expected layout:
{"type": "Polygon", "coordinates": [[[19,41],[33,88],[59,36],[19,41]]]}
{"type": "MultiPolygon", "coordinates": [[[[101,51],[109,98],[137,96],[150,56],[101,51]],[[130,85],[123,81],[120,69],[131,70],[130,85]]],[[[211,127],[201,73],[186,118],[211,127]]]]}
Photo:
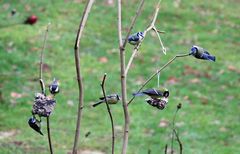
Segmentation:
{"type": "MultiPolygon", "coordinates": [[[[160,73],[162,70],[164,70],[168,65],[170,65],[176,58],[180,58],[180,57],[186,57],[186,56],[190,56],[190,54],[180,54],[180,55],[176,55],[175,57],[173,57],[171,60],[169,60],[165,65],[163,65],[157,72],[153,73],[144,83],[143,85],[138,89],[137,93],[140,92],[147,84],[148,82],[150,82],[158,73],[160,73]]],[[[134,100],[135,96],[133,96],[130,101],[128,102],[128,105],[132,103],[132,101],[134,100]]]]}

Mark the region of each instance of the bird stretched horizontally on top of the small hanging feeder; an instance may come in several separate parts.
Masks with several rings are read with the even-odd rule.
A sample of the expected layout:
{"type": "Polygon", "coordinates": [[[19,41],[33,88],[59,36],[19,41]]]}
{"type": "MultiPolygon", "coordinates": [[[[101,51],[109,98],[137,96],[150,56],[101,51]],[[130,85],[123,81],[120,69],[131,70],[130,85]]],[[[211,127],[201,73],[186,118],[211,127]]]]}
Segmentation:
{"type": "Polygon", "coordinates": [[[148,95],[151,98],[160,98],[160,97],[168,97],[169,96],[169,91],[167,88],[161,88],[159,90],[157,89],[146,89],[140,92],[133,93],[133,96],[142,96],[142,95],[148,95]]]}

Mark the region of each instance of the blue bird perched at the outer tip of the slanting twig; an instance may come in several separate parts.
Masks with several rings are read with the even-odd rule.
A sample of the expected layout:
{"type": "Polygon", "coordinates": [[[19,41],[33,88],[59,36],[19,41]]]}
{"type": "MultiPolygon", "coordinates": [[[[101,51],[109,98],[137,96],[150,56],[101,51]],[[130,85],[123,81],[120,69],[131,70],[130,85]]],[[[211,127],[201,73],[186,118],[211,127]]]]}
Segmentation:
{"type": "Polygon", "coordinates": [[[192,46],[190,55],[194,56],[197,59],[209,60],[209,61],[216,61],[216,57],[211,55],[207,50],[203,49],[199,46],[192,46]]]}

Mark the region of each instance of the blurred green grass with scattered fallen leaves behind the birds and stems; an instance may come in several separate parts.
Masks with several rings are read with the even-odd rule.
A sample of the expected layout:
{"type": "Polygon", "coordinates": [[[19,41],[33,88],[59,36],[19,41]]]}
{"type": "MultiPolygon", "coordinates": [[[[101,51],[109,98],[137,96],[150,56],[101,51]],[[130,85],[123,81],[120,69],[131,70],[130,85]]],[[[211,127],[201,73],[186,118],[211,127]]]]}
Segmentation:
{"type": "MultiPolygon", "coordinates": [[[[123,35],[126,35],[139,0],[123,2],[123,35]]],[[[44,53],[44,80],[56,77],[61,93],[51,116],[55,153],[71,151],[77,115],[78,87],[74,62],[74,43],[86,1],[81,0],[0,0],[0,153],[48,153],[46,120],[43,137],[27,124],[31,116],[38,83],[39,57],[46,25],[51,22],[44,53]],[[16,14],[11,16],[11,10],[16,14]],[[29,15],[39,20],[22,24],[29,15]]],[[[148,0],[133,32],[143,31],[150,23],[157,0],[148,0]]],[[[128,75],[128,98],[158,68],[178,53],[188,53],[199,45],[217,57],[202,61],[179,58],[165,69],[160,84],[170,91],[164,110],[135,99],[131,115],[129,154],[164,153],[170,145],[171,121],[178,103],[183,107],[176,127],[186,154],[240,153],[240,15],[239,0],[162,1],[156,27],[167,55],[154,32],[148,33],[128,75]]],[[[94,3],[81,41],[81,66],[86,106],[102,95],[100,82],[108,74],[107,93],[120,93],[116,0],[94,3]]],[[[127,45],[127,59],[133,46],[127,45]]],[[[147,88],[156,87],[157,78],[147,88]]],[[[111,106],[114,116],[116,153],[122,146],[123,110],[111,106]]],[[[111,127],[104,105],[83,110],[79,149],[111,151],[111,127]],[[88,138],[84,135],[91,132],[88,138]]],[[[174,142],[178,153],[177,142],[174,142]]]]}

